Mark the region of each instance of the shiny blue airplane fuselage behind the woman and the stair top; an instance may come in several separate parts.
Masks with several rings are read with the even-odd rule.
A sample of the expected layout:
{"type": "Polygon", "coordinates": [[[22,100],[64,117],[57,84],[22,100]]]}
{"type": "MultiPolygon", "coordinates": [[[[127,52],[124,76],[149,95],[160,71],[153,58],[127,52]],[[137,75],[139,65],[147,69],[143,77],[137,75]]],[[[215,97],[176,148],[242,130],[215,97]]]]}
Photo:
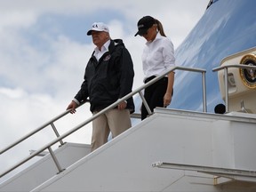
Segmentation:
{"type": "MultiPolygon", "coordinates": [[[[218,74],[212,68],[219,67],[221,60],[229,55],[256,45],[255,20],[249,8],[254,4],[253,1],[210,1],[204,16],[175,51],[177,65],[206,69],[208,111],[213,112],[216,105],[223,103],[218,74]]],[[[178,71],[175,76],[171,108],[202,111],[198,97],[200,76],[182,74],[178,71]]]]}

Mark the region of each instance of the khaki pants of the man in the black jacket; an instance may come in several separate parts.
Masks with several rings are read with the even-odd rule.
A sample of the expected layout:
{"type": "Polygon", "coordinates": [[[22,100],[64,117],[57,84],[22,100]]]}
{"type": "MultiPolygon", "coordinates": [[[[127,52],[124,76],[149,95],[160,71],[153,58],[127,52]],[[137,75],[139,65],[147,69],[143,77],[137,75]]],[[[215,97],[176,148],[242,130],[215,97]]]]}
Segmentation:
{"type": "MultiPolygon", "coordinates": [[[[95,115],[97,112],[93,112],[95,115]]],[[[108,110],[107,113],[98,116],[92,121],[92,151],[100,148],[108,142],[109,132],[112,138],[124,132],[132,126],[129,109],[118,110],[116,108],[108,110]]]]}

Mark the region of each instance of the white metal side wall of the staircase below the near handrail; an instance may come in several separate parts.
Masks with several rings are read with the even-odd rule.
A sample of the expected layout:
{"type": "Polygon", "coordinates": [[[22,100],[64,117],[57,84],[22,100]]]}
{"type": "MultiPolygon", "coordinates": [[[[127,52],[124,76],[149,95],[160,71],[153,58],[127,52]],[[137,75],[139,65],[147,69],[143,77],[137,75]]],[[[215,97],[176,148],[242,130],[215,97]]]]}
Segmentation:
{"type": "Polygon", "coordinates": [[[255,191],[256,119],[243,115],[157,108],[32,191],[255,191]]]}

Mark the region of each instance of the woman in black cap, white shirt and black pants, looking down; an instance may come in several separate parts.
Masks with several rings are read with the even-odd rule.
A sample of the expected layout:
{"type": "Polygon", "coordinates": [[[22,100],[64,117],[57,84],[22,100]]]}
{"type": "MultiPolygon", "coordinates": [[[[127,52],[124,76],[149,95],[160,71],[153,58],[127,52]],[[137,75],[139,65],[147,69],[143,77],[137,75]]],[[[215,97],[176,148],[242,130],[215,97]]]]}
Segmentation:
{"type": "MultiPolygon", "coordinates": [[[[144,83],[156,76],[162,75],[175,65],[174,49],[172,41],[164,34],[164,28],[159,20],[151,16],[145,16],[138,21],[138,32],[135,36],[143,36],[146,46],[142,53],[144,83]]],[[[166,108],[172,100],[174,72],[151,84],[145,89],[144,97],[151,111],[156,107],[166,108]]],[[[148,116],[148,111],[142,104],[141,120],[148,116]]]]}

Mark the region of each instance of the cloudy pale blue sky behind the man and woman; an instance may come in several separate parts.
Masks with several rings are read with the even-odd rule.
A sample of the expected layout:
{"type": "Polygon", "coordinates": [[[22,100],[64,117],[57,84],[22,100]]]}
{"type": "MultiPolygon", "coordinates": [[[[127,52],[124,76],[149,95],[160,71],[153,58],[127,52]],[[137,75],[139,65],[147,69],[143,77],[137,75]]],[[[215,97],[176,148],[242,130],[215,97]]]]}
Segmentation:
{"type": "MultiPolygon", "coordinates": [[[[95,46],[91,36],[86,36],[93,22],[105,22],[112,39],[123,39],[132,55],[136,89],[143,84],[140,54],[146,43],[134,36],[138,20],[145,15],[160,20],[176,49],[203,16],[208,3],[0,0],[0,149],[66,110],[83,82],[84,68],[95,46]]],[[[90,116],[89,105],[85,104],[76,115],[68,115],[55,125],[61,134],[90,116]]],[[[89,124],[67,140],[89,144],[91,135],[89,124]]],[[[37,149],[54,138],[49,127],[24,144],[27,149],[23,153],[28,155],[28,149],[37,149]]],[[[0,164],[7,164],[6,156],[0,158],[0,164]]]]}

